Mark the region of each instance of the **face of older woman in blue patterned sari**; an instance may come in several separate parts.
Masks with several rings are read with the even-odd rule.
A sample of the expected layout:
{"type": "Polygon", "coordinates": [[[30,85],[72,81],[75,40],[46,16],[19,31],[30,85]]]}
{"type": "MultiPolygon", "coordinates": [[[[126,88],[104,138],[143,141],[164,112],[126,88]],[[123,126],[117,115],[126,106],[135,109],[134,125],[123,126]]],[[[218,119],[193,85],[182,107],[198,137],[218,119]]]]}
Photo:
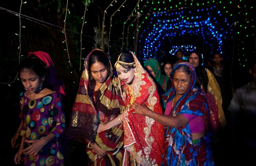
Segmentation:
{"type": "Polygon", "coordinates": [[[187,92],[191,77],[185,72],[177,71],[173,74],[173,85],[177,94],[183,95],[187,92]]]}

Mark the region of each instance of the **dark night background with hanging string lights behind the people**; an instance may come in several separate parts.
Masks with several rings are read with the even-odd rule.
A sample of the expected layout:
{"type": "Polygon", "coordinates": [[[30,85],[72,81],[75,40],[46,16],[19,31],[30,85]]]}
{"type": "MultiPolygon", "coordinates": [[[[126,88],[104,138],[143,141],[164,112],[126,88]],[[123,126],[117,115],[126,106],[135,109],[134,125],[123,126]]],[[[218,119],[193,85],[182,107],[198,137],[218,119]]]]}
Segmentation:
{"type": "MultiPolygon", "coordinates": [[[[184,59],[195,47],[201,50],[205,62],[214,52],[222,52],[222,62],[231,69],[236,89],[250,81],[248,62],[255,58],[256,49],[255,16],[255,5],[249,0],[69,0],[68,4],[63,0],[28,0],[22,5],[18,0],[1,1],[0,102],[4,128],[2,149],[6,150],[2,155],[4,165],[13,165],[16,152],[11,148],[11,138],[20,124],[18,96],[23,91],[17,80],[17,67],[29,52],[41,50],[51,56],[58,76],[67,86],[70,112],[83,60],[94,48],[103,49],[112,63],[119,51],[130,50],[142,64],[149,57],[159,62],[165,59],[175,62],[173,52],[186,46],[193,48],[184,49],[184,59]],[[102,34],[103,27],[105,33],[102,34]]],[[[216,161],[230,152],[228,146],[224,149],[216,161]]],[[[86,164],[85,150],[84,145],[69,141],[66,165],[86,164]]],[[[216,162],[216,165],[221,164],[216,162]]]]}

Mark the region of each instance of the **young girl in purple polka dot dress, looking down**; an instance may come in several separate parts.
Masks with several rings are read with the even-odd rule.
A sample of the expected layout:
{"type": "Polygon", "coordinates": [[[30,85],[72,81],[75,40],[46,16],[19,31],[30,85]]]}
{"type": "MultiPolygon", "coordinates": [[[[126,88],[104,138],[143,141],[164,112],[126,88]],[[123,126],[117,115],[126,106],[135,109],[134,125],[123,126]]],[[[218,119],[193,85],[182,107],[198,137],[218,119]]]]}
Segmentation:
{"type": "Polygon", "coordinates": [[[61,94],[43,86],[46,69],[38,59],[24,59],[19,75],[25,91],[20,94],[22,136],[14,162],[27,166],[64,165],[60,136],[65,130],[61,94]]]}

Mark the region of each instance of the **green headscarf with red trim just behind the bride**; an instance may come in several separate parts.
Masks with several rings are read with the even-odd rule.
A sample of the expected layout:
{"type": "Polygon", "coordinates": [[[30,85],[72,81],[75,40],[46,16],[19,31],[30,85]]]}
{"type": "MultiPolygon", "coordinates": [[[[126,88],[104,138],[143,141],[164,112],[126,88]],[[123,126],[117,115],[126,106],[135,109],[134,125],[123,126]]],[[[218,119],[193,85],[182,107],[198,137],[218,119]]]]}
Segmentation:
{"type": "Polygon", "coordinates": [[[166,91],[167,81],[169,77],[161,73],[161,67],[158,61],[154,58],[147,59],[144,63],[144,68],[146,66],[150,66],[153,69],[155,73],[155,78],[153,78],[153,80],[157,84],[157,91],[159,95],[161,95],[163,93],[163,90],[166,91]]]}

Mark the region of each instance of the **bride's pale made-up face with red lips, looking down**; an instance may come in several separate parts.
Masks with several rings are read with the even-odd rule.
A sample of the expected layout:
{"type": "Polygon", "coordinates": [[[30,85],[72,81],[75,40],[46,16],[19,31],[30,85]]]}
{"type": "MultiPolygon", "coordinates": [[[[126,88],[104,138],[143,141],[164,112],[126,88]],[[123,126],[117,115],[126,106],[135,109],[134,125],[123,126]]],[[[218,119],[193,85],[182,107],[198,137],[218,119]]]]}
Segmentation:
{"type": "MultiPolygon", "coordinates": [[[[128,67],[128,66],[127,66],[128,67]]],[[[116,68],[116,72],[118,77],[126,84],[133,84],[134,80],[134,72],[135,70],[133,68],[123,68],[123,66],[120,65],[119,68],[116,68]]]]}

